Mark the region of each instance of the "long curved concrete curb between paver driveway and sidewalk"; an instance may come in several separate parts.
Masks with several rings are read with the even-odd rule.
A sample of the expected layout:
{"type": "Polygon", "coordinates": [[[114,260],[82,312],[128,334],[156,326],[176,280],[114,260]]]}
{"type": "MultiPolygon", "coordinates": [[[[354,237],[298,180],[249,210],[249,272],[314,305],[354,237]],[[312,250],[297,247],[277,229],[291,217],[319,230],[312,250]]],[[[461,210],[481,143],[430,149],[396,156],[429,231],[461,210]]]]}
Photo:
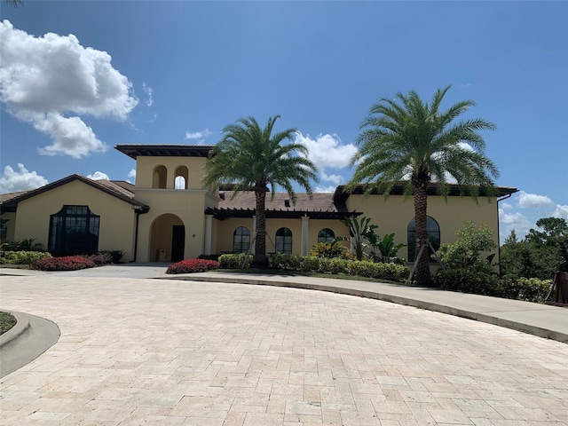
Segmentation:
{"type": "MultiPolygon", "coordinates": [[[[415,299],[407,296],[396,296],[389,295],[381,292],[360,290],[357,288],[347,288],[347,287],[336,287],[327,286],[322,284],[307,284],[302,282],[293,281],[277,281],[277,280],[258,280],[254,278],[233,278],[233,277],[203,277],[203,276],[170,276],[163,277],[162,280],[192,280],[192,281],[214,281],[214,282],[228,282],[233,284],[252,284],[260,286],[273,286],[273,287],[286,287],[286,288],[304,288],[310,290],[327,291],[330,293],[337,293],[349,296],[359,296],[367,297],[376,300],[382,300],[384,302],[390,302],[393,304],[403,304],[406,306],[413,306],[419,309],[425,309],[432,312],[441,312],[449,315],[454,315],[466,319],[474,319],[480,322],[485,322],[487,324],[492,324],[494,326],[511,328],[513,330],[521,331],[530,335],[536,335],[538,337],[543,337],[551,340],[556,340],[562,343],[568,343],[568,333],[563,333],[561,331],[550,330],[545,327],[539,327],[532,324],[527,324],[525,322],[517,321],[514,319],[503,318],[503,315],[499,316],[500,312],[483,312],[477,311],[472,312],[469,310],[457,308],[449,304],[436,304],[432,302],[423,301],[420,299],[415,299]]],[[[547,308],[548,309],[548,308],[547,308]]],[[[558,308],[563,309],[563,308],[558,308]]],[[[502,313],[502,312],[501,312],[502,313]]],[[[568,312],[567,312],[568,313],[568,312]]]]}

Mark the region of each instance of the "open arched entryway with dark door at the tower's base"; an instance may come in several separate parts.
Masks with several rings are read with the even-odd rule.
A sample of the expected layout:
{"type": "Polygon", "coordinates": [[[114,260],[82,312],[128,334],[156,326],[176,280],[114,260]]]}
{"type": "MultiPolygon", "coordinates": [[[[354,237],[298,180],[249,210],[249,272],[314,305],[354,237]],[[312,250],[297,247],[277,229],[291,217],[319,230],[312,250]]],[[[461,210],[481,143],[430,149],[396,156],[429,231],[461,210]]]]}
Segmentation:
{"type": "Polygon", "coordinates": [[[156,217],[150,230],[151,262],[178,262],[184,259],[185,226],[176,215],[156,217]]]}

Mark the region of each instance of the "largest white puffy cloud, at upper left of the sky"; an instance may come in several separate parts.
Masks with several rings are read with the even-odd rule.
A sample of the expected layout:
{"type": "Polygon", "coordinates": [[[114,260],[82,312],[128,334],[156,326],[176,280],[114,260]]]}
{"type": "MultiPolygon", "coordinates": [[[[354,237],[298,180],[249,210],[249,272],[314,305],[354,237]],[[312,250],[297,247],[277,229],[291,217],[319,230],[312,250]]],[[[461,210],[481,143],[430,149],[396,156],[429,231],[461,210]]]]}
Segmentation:
{"type": "Polygon", "coordinates": [[[125,121],[138,104],[111,56],[83,47],[73,35],[28,35],[8,20],[0,22],[0,40],[0,101],[52,139],[40,154],[81,158],[105,152],[80,116],[125,121]]]}

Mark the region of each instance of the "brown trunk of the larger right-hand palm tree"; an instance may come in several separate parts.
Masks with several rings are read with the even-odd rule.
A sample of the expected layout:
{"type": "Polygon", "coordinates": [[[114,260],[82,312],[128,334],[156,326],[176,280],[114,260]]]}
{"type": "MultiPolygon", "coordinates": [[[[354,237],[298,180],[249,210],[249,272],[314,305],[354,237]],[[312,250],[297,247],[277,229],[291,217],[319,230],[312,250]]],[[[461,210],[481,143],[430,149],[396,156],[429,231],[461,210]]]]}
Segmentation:
{"type": "Polygon", "coordinates": [[[428,247],[428,229],[427,229],[427,210],[428,210],[428,195],[426,190],[428,182],[423,182],[419,179],[413,179],[414,188],[414,224],[416,232],[416,248],[414,262],[420,253],[422,245],[426,244],[422,256],[416,264],[415,277],[416,283],[422,287],[431,287],[433,285],[432,276],[430,274],[430,248],[428,247]]]}

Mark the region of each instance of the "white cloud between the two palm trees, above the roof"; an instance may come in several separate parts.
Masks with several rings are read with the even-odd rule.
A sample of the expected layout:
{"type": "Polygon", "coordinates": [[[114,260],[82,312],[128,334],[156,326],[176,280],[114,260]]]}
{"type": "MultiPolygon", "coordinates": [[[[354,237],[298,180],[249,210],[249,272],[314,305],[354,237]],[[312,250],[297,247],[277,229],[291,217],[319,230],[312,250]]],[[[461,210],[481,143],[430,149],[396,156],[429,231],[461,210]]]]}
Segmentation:
{"type": "MultiPolygon", "coordinates": [[[[339,185],[343,177],[338,174],[327,174],[326,169],[343,169],[349,165],[351,157],[357,153],[357,147],[353,144],[343,144],[337,135],[319,134],[316,138],[310,135],[304,136],[301,132],[296,134],[295,142],[308,148],[308,158],[319,170],[319,178],[324,182],[339,185]]],[[[325,191],[329,192],[328,186],[325,191]]],[[[335,188],[333,188],[335,190],[335,188]]],[[[333,190],[331,192],[333,192],[333,190]]]]}

